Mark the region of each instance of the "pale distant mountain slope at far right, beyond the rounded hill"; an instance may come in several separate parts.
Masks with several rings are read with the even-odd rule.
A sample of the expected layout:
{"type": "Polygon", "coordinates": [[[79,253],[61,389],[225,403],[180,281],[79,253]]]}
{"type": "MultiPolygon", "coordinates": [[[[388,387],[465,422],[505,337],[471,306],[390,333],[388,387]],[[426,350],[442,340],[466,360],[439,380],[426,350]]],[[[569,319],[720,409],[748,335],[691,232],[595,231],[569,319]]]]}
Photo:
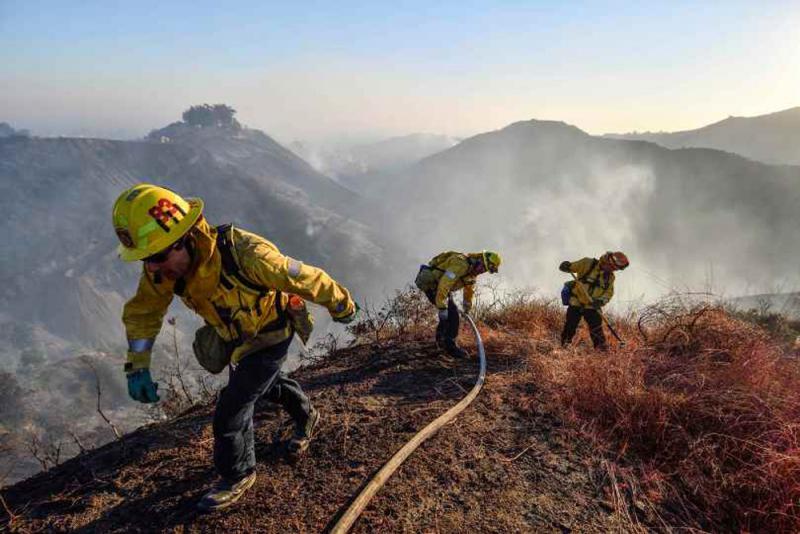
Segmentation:
{"type": "Polygon", "coordinates": [[[716,148],[772,164],[800,165],[800,107],[757,117],[728,117],[697,130],[607,134],[667,148],[716,148]]]}

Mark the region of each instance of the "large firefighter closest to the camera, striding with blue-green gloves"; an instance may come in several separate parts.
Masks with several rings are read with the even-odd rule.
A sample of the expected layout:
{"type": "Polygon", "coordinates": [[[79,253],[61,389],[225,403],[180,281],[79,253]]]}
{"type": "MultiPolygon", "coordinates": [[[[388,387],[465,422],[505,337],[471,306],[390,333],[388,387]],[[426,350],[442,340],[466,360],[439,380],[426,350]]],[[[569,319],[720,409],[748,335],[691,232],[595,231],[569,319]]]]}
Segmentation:
{"type": "Polygon", "coordinates": [[[282,405],[294,420],[287,444],[292,454],[305,451],[319,420],[300,385],[281,373],[295,330],[308,333],[307,313],[297,313],[302,306],[296,301],[287,311],[290,299],[324,306],[342,323],[353,320],[357,306],[321,269],[282,255],[255,234],[212,227],[202,213],[198,198],[139,184],[117,199],[113,222],[120,257],[143,262],[138,290],[122,315],[130,396],[159,400],[150,354],[174,295],[205,319],[194,342],[201,365],[212,372],[229,367],[213,421],[220,479],[198,503],[207,511],[233,504],[255,482],[253,410],[260,397],[282,405]]]}

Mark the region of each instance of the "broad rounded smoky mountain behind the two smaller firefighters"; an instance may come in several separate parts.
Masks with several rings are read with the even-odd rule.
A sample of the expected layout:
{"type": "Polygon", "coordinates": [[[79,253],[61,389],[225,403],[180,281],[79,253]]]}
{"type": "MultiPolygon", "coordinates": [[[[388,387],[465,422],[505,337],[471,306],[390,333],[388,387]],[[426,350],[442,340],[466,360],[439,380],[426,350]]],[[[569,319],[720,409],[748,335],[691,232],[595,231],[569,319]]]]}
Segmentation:
{"type": "Polygon", "coordinates": [[[531,120],[383,181],[374,216],[417,262],[441,250],[496,248],[507,258],[505,282],[546,294],[563,282],[561,260],[625,250],[632,267],[616,299],[624,305],[708,284],[743,294],[794,277],[798,184],[800,167],[531,120]]]}

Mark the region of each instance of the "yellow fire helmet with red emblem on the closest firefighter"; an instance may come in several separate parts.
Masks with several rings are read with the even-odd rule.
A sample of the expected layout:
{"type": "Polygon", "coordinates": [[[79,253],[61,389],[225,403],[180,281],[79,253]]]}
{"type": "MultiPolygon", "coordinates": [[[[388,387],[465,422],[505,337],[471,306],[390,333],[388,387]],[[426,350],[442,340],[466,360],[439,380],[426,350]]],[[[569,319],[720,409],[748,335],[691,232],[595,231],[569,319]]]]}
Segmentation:
{"type": "Polygon", "coordinates": [[[139,184],[123,191],[112,212],[119,257],[136,261],[161,252],[186,234],[202,213],[199,198],[183,199],[157,185],[139,184]]]}

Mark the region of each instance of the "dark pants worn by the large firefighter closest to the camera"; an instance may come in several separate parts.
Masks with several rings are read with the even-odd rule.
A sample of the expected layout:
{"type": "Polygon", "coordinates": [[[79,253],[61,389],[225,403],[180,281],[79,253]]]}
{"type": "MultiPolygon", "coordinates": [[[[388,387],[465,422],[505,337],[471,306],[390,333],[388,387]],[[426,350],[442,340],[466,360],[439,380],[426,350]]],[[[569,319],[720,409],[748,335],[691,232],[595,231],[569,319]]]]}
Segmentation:
{"type": "Polygon", "coordinates": [[[255,470],[253,410],[265,397],[283,406],[300,425],[308,420],[311,403],[300,384],[281,372],[292,338],[245,356],[231,369],[214,412],[214,466],[235,482],[255,470]]]}

